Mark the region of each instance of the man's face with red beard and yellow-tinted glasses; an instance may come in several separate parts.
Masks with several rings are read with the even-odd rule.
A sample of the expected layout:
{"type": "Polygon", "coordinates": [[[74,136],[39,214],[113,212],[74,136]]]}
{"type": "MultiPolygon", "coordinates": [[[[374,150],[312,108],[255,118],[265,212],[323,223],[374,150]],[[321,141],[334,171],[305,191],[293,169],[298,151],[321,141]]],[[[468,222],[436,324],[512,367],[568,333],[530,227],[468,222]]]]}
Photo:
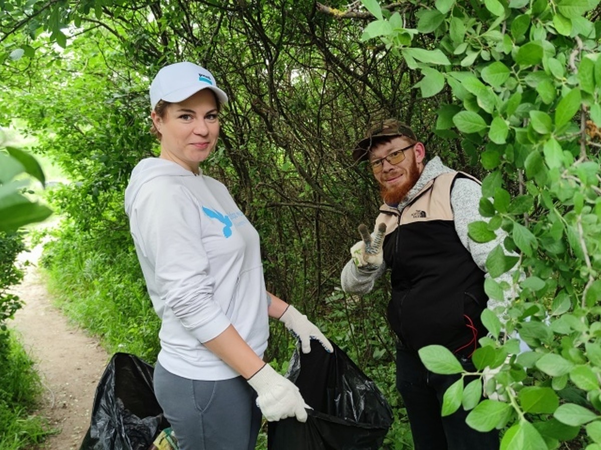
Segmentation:
{"type": "Polygon", "coordinates": [[[388,205],[396,205],[407,195],[419,179],[424,170],[424,155],[426,153],[421,142],[413,144],[412,140],[405,136],[394,137],[390,142],[383,142],[371,148],[369,160],[382,161],[382,170],[374,173],[374,178],[380,184],[380,194],[388,205]],[[406,148],[409,146],[409,148],[406,148]],[[386,158],[388,155],[400,149],[403,151],[404,160],[397,164],[391,164],[386,158]]]}

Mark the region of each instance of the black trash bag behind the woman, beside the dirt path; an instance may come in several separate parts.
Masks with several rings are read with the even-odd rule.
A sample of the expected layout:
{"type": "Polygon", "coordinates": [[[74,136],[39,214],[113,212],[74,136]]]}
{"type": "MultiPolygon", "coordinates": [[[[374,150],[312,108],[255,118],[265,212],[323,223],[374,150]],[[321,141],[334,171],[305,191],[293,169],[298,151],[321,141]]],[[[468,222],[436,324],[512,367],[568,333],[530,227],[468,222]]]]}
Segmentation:
{"type": "Polygon", "coordinates": [[[147,450],[169,427],[154,396],[154,368],[115,353],[100,378],[88,433],[80,450],[147,450]]]}

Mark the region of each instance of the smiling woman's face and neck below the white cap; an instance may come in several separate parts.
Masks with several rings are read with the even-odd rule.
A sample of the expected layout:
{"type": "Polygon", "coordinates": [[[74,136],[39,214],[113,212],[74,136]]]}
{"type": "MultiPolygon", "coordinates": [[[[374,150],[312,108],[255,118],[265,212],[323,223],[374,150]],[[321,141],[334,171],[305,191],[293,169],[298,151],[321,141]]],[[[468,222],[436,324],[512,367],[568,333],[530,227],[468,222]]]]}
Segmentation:
{"type": "Polygon", "coordinates": [[[169,104],[162,118],[153,111],[154,126],[161,134],[160,158],[198,173],[198,164],[209,157],[217,143],[218,113],[215,94],[210,89],[169,104]]]}

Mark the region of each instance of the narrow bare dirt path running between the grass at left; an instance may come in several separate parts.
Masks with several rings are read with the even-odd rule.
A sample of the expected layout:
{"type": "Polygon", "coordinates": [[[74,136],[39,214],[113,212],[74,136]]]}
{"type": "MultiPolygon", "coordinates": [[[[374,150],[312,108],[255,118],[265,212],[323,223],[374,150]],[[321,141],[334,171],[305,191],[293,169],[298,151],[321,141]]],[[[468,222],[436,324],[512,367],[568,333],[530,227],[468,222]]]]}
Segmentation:
{"type": "Polygon", "coordinates": [[[97,340],[67,322],[51,304],[37,270],[40,249],[23,253],[32,262],[25,279],[11,289],[25,301],[10,324],[22,335],[22,343],[36,362],[44,384],[38,412],[60,430],[41,446],[44,450],[78,450],[90,426],[94,392],[109,355],[97,340]]]}

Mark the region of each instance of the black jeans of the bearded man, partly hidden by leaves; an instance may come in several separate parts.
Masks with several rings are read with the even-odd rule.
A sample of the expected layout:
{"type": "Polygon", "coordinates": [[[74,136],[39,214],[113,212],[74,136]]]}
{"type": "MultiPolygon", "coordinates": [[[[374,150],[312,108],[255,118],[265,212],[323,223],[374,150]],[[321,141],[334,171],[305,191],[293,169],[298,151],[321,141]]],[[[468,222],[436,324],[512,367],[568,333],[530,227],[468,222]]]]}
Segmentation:
{"type": "MultiPolygon", "coordinates": [[[[471,359],[460,359],[466,370],[474,371],[471,359]]],[[[468,411],[459,407],[442,417],[442,396],[459,375],[441,375],[424,367],[417,353],[397,347],[397,389],[409,416],[415,450],[496,450],[499,431],[481,433],[465,423],[468,411]]],[[[465,384],[474,377],[466,377],[465,384]]]]}

